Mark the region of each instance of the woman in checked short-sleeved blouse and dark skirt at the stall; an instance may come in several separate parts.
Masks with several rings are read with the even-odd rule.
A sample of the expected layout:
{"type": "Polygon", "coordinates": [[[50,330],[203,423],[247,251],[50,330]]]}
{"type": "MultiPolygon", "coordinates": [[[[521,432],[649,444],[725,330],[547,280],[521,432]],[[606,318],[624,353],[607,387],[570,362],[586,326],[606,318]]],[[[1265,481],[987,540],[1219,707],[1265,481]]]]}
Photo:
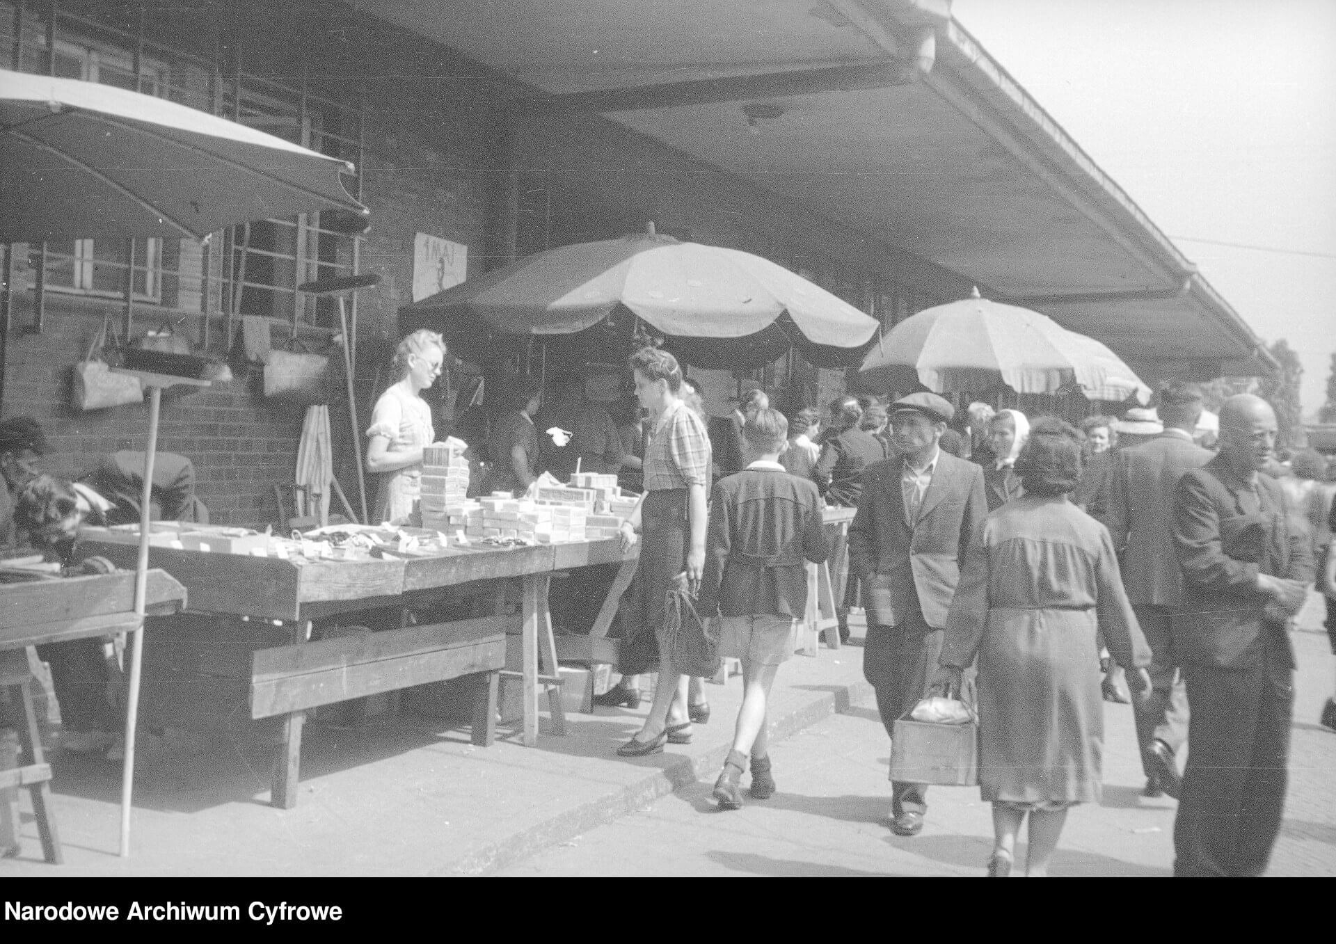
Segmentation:
{"type": "MultiPolygon", "coordinates": [[[[709,483],[709,437],[705,425],[681,401],[681,369],[676,358],[652,347],[631,358],[636,398],[649,410],[651,434],[645,447],[645,494],[631,518],[621,525],[624,547],[643,539],[637,590],[623,610],[631,637],[627,654],[655,638],[659,649],[659,682],[644,728],[617,749],[623,757],[663,750],[664,742],[687,744],[687,677],[677,673],[667,652],[663,606],[673,579],[687,574],[692,592],[700,586],[705,566],[705,489],[709,483]],[[643,538],[637,538],[636,533],[643,538]],[[629,613],[627,610],[631,610],[629,613]]],[[[624,662],[624,673],[647,670],[624,662]]]]}

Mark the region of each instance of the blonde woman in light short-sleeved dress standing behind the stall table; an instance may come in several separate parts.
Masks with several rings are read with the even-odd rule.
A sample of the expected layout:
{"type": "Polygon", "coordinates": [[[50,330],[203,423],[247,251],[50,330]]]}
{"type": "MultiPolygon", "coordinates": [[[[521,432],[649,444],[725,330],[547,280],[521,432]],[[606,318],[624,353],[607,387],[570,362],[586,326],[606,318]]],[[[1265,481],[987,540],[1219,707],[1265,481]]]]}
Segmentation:
{"type": "Polygon", "coordinates": [[[417,525],[422,491],[422,447],[436,441],[432,407],[424,390],[436,383],[445,365],[445,339],[436,331],[414,331],[394,351],[398,381],[375,401],[366,430],[366,469],[381,477],[371,522],[417,525]]]}

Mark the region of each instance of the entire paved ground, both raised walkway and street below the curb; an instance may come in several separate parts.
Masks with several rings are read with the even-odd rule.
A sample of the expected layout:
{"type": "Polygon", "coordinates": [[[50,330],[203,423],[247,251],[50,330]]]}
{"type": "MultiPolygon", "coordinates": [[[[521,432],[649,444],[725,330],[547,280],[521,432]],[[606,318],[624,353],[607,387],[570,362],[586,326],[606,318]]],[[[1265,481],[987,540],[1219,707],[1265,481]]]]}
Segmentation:
{"type": "MultiPolygon", "coordinates": [[[[854,629],[860,634],[856,620],[854,629]]],[[[116,856],[119,768],[57,756],[55,808],[67,864],[40,861],[24,797],[23,856],[0,860],[0,877],[628,875],[648,863],[659,875],[695,875],[711,873],[689,855],[707,839],[720,873],[978,875],[990,825],[974,789],[934,788],[919,837],[899,840],[886,829],[887,742],[856,644],[784,665],[771,713],[778,740],[787,738],[775,745],[783,793],[766,809],[752,804],[728,820],[704,808],[729,746],[737,678],[707,686],[713,717],[696,725],[692,745],[644,758],[619,758],[615,750],[639,729],[648,705],[569,716],[566,737],[552,736],[544,720],[534,749],[517,736],[474,748],[466,730],[414,716],[354,732],[310,722],[301,802],[291,810],[267,805],[273,754],[255,738],[207,745],[146,738],[128,860],[116,856]],[[844,714],[832,717],[836,710],[844,714]],[[727,843],[719,841],[724,828],[736,833],[727,843]],[[755,828],[768,829],[783,848],[747,833],[755,828]],[[577,864],[572,853],[592,851],[599,835],[613,837],[611,845],[625,855],[577,864]],[[648,856],[655,844],[681,855],[648,856]]],[[[1315,724],[1332,689],[1333,660],[1325,637],[1311,628],[1296,633],[1296,646],[1291,800],[1272,872],[1333,875],[1336,734],[1315,724]]],[[[243,705],[236,716],[244,717],[243,705]]],[[[1173,801],[1137,796],[1130,710],[1110,705],[1106,726],[1105,806],[1073,813],[1055,871],[1166,875],[1173,801]]]]}

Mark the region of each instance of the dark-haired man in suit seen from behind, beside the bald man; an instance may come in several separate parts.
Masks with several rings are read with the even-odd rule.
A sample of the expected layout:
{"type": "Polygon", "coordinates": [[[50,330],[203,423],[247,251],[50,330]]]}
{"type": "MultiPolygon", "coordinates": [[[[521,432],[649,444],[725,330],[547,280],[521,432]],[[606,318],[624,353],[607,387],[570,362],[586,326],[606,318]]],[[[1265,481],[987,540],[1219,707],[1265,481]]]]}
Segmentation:
{"type": "MultiPolygon", "coordinates": [[[[1178,479],[1210,461],[1192,441],[1201,417],[1201,390],[1190,383],[1160,394],[1165,430],[1149,442],[1113,453],[1104,522],[1120,551],[1122,585],[1150,645],[1150,697],[1133,705],[1145,796],[1178,796],[1176,754],[1188,737],[1188,689],[1173,653],[1174,613],[1182,606],[1182,574],[1173,547],[1173,497],[1178,479]]],[[[1088,509],[1089,510],[1089,509],[1088,509]]]]}

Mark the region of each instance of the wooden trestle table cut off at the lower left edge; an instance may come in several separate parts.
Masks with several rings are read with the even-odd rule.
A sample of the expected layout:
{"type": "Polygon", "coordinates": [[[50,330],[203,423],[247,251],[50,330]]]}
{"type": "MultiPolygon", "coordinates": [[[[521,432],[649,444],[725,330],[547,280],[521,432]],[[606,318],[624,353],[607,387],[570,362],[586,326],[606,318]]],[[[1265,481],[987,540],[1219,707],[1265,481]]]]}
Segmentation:
{"type": "MultiPolygon", "coordinates": [[[[162,570],[148,571],[146,613],[164,616],[184,604],[186,587],[162,570]]],[[[19,741],[29,760],[16,769],[0,770],[0,789],[27,786],[32,792],[37,835],[48,863],[61,861],[60,836],[51,812],[51,766],[41,753],[23,650],[48,642],[130,633],[140,624],[135,613],[134,571],[0,585],[0,684],[19,696],[24,716],[19,741]]]]}

